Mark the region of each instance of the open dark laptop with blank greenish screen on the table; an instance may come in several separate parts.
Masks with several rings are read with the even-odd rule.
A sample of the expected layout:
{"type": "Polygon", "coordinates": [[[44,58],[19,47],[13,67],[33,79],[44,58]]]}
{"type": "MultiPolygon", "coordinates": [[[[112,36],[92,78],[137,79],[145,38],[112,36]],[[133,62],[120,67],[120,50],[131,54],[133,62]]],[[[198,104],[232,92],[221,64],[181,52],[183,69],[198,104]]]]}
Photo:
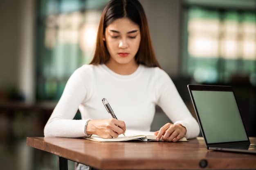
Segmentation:
{"type": "Polygon", "coordinates": [[[187,87],[207,149],[256,154],[231,86],[187,87]]]}

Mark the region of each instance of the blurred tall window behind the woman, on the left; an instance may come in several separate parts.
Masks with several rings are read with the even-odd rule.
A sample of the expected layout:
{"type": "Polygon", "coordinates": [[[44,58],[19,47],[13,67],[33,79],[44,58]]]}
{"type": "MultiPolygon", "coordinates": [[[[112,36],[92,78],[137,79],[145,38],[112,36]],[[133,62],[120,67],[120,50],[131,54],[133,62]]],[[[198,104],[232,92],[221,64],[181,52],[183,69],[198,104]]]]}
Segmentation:
{"type": "Polygon", "coordinates": [[[99,18],[108,0],[39,0],[36,99],[56,101],[74,70],[92,59],[99,18]]]}

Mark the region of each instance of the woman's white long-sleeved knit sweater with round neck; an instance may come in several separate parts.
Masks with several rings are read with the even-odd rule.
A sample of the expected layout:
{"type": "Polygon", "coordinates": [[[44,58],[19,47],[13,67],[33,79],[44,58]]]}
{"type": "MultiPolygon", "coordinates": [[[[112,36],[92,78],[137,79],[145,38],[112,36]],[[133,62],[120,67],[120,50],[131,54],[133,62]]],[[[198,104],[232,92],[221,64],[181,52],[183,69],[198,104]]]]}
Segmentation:
{"type": "Polygon", "coordinates": [[[63,94],[45,125],[46,137],[82,137],[88,119],[106,119],[101,99],[107,98],[115,115],[126,129],[149,131],[159,105],[176,124],[186,127],[187,139],[200,129],[171,78],[159,67],[139,65],[130,75],[119,75],[106,65],[83,65],[70,76],[63,94]],[[82,120],[73,120],[77,110],[82,120]]]}

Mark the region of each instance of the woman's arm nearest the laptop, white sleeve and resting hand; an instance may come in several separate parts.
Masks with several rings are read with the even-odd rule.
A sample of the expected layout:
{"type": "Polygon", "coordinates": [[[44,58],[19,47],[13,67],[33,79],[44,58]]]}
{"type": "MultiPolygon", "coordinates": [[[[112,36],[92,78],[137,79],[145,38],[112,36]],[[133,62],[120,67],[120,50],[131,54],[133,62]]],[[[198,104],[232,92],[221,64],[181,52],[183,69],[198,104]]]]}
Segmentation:
{"type": "Polygon", "coordinates": [[[161,74],[159,86],[159,105],[172,123],[162,126],[155,134],[157,137],[164,135],[164,140],[177,141],[182,137],[194,138],[198,136],[200,129],[197,121],[193,118],[171,78],[165,73],[161,74]]]}

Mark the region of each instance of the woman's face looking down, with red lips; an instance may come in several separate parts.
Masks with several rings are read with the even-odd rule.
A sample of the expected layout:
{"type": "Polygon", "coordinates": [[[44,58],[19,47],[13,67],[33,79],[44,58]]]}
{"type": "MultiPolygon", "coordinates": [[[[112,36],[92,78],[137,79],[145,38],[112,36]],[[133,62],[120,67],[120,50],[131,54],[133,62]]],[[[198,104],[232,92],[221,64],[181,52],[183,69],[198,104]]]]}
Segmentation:
{"type": "Polygon", "coordinates": [[[135,55],[141,40],[139,25],[128,18],[117,19],[106,27],[103,40],[110,54],[108,64],[137,65],[135,55]]]}

